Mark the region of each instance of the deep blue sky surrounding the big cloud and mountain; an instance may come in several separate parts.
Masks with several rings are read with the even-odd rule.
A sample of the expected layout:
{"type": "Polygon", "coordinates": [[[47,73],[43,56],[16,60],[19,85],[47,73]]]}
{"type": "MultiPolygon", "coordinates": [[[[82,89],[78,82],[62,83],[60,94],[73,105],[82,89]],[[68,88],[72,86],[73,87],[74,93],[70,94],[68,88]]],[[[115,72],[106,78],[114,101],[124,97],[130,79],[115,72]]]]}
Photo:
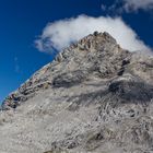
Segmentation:
{"type": "Polygon", "coordinates": [[[153,1],[149,2],[141,5],[141,0],[0,0],[0,101],[52,60],[51,54],[39,51],[34,43],[47,23],[82,14],[119,16],[152,48],[153,1]]]}

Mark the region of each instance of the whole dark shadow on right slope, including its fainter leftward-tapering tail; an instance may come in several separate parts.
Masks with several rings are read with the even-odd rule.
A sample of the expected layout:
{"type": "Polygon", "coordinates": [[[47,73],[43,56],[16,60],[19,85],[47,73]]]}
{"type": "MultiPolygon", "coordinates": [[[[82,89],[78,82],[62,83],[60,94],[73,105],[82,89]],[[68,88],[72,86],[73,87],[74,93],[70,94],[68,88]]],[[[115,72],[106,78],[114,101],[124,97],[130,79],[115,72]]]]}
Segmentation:
{"type": "Polygon", "coordinates": [[[144,82],[117,81],[110,83],[106,90],[99,90],[87,94],[72,96],[70,110],[76,110],[80,106],[90,104],[111,103],[114,107],[119,104],[141,104],[149,105],[153,99],[153,85],[144,82]]]}

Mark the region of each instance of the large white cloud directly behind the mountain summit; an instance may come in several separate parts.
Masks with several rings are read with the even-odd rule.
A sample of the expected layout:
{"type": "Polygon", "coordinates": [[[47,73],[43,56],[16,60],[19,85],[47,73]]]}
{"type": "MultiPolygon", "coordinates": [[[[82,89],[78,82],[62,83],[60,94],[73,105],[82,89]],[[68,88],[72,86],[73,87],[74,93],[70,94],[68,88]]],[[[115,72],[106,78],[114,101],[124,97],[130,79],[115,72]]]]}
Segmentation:
{"type": "Polygon", "coordinates": [[[51,51],[54,48],[61,50],[95,31],[108,32],[125,49],[131,51],[150,49],[120,17],[86,15],[47,24],[39,39],[36,40],[36,46],[40,51],[51,51]]]}

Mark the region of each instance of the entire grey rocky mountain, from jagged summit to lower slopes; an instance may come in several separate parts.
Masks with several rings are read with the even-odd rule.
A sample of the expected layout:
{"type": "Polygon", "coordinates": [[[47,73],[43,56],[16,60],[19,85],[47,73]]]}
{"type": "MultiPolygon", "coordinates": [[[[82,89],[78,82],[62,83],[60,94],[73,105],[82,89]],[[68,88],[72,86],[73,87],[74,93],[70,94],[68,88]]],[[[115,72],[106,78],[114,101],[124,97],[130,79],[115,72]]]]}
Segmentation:
{"type": "Polygon", "coordinates": [[[0,153],[153,153],[153,57],[108,33],[66,48],[4,99],[0,153]]]}

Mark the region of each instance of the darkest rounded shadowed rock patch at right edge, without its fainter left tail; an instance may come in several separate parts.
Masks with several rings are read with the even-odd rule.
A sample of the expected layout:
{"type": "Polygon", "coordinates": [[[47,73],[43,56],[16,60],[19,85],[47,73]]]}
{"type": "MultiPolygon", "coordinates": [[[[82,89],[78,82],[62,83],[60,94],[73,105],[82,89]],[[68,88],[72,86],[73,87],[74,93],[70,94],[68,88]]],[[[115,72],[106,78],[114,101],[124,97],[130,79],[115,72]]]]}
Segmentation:
{"type": "Polygon", "coordinates": [[[115,81],[109,91],[128,103],[150,103],[153,98],[153,85],[144,82],[115,81]]]}

